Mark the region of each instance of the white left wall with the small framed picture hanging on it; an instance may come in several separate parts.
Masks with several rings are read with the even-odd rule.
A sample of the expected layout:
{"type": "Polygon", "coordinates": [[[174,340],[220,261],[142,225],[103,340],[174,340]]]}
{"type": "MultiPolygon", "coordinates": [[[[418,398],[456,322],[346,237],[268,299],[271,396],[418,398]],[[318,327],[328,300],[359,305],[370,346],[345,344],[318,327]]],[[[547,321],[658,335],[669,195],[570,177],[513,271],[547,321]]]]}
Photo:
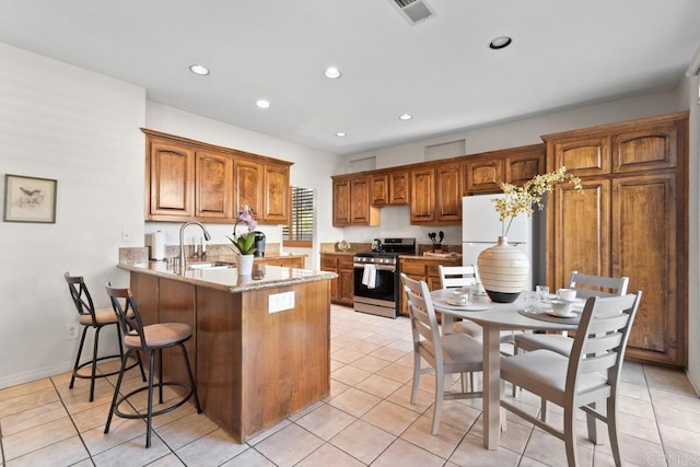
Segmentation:
{"type": "Polygon", "coordinates": [[[131,246],[121,231],[143,236],[144,103],[141,87],[0,44],[0,172],[58,180],[55,224],[0,223],[0,387],[72,366],[63,272],[108,306],[104,284],[131,246]]]}

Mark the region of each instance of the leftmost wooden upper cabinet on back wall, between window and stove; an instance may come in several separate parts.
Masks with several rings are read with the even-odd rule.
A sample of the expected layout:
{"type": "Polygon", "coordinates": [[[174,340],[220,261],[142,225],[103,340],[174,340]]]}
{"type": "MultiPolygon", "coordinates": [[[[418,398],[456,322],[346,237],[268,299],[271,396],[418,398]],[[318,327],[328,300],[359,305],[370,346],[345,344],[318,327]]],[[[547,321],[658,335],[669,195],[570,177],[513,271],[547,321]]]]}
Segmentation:
{"type": "Polygon", "coordinates": [[[366,173],[332,177],[332,224],[378,225],[380,210],[370,206],[371,177],[366,173]]]}

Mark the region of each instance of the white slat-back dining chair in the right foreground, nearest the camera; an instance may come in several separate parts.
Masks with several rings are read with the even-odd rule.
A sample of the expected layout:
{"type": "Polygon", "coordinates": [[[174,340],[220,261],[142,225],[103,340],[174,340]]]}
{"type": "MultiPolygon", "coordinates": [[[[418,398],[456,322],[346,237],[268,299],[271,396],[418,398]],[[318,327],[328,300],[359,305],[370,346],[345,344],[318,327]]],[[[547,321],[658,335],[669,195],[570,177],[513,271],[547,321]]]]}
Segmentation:
{"type": "Polygon", "coordinates": [[[559,437],[567,460],[578,465],[576,409],[586,413],[588,439],[597,443],[596,420],[608,425],[615,465],[621,465],[618,434],[618,384],[629,331],[642,292],[591,296],[581,315],[571,354],[539,349],[502,359],[501,378],[563,408],[563,430],[502,399],[501,407],[559,437]],[[604,412],[596,404],[606,402],[604,412]]]}

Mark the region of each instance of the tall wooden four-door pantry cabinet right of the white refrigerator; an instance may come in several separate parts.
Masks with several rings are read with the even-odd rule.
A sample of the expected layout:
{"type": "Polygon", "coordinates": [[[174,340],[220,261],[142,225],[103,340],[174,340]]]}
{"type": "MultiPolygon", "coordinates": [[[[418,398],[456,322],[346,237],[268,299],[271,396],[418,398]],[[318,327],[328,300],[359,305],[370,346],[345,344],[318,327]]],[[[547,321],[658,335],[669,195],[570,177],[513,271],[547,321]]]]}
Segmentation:
{"type": "Polygon", "coordinates": [[[572,270],[630,278],[643,291],[627,355],[687,364],[688,113],[544,136],[547,170],[565,166],[547,209],[547,281],[572,270]]]}

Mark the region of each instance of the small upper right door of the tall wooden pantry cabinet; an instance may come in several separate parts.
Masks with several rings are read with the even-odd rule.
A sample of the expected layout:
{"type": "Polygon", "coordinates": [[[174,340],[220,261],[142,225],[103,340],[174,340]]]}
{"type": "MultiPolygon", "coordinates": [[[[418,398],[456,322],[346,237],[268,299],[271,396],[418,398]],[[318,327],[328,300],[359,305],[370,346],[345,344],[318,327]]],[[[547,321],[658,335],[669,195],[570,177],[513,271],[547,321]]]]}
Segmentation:
{"type": "MultiPolygon", "coordinates": [[[[676,122],[646,125],[612,138],[612,172],[649,172],[677,165],[676,122]]],[[[681,127],[681,131],[685,131],[681,127]]],[[[681,142],[682,143],[682,142],[681,142]]]]}

